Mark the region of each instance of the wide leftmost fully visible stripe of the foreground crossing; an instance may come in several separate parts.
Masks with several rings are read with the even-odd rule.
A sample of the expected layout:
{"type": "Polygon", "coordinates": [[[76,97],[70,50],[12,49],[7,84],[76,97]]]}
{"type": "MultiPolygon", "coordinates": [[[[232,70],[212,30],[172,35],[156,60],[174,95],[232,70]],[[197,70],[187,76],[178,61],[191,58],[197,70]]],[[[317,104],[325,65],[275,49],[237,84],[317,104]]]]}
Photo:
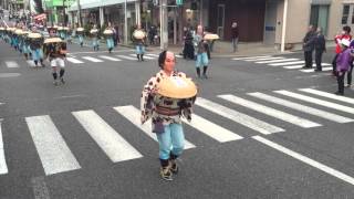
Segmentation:
{"type": "Polygon", "coordinates": [[[81,168],[49,115],[25,117],[25,122],[45,175],[81,168]]]}

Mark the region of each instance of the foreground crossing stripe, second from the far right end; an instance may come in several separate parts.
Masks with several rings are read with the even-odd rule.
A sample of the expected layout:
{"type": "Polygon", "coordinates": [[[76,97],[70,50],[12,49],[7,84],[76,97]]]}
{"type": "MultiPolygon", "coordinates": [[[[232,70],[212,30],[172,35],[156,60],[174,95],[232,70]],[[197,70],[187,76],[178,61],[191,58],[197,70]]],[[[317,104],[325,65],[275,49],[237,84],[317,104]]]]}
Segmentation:
{"type": "Polygon", "coordinates": [[[343,106],[343,105],[340,105],[340,104],[331,103],[331,102],[327,102],[327,101],[322,101],[322,100],[319,100],[319,98],[310,97],[310,96],[306,96],[306,95],[301,95],[301,94],[289,92],[289,91],[284,91],[284,90],[273,91],[273,92],[278,93],[278,94],[281,94],[281,95],[289,96],[289,97],[293,97],[293,98],[298,98],[298,100],[301,100],[301,101],[305,101],[305,102],[309,102],[309,103],[312,103],[312,104],[317,104],[320,106],[325,106],[325,107],[330,107],[330,108],[333,108],[333,109],[339,109],[339,111],[342,111],[342,112],[345,112],[345,113],[354,114],[354,108],[348,107],[348,106],[343,106]]]}

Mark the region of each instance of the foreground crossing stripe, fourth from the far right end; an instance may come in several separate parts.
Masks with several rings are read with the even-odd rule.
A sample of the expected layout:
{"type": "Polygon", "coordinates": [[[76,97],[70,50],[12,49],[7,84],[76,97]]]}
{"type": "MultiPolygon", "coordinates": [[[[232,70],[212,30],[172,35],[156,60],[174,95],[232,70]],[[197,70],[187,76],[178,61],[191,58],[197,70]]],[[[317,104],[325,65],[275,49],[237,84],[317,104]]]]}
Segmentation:
{"type": "Polygon", "coordinates": [[[238,104],[241,106],[244,106],[247,108],[253,109],[256,112],[260,112],[262,114],[275,117],[278,119],[291,123],[293,125],[303,127],[303,128],[312,128],[312,127],[317,127],[317,126],[322,126],[321,124],[288,114],[285,112],[281,112],[251,101],[247,101],[244,98],[235,96],[235,95],[218,95],[218,97],[223,98],[226,101],[229,101],[233,104],[238,104]]]}

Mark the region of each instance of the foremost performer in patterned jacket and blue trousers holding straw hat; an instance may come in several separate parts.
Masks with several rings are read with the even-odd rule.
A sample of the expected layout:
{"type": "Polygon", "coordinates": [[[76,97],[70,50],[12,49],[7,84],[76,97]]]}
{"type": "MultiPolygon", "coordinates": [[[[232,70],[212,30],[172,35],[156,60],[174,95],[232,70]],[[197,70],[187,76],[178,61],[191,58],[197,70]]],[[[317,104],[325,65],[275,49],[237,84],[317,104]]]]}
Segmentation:
{"type": "Polygon", "coordinates": [[[159,144],[160,177],[173,180],[178,172],[176,159],[184,150],[185,136],[181,117],[191,119],[191,105],[197,88],[185,73],[175,71],[176,57],[173,52],[159,54],[162,69],[144,86],[140,98],[142,124],[152,118],[153,132],[159,144]]]}

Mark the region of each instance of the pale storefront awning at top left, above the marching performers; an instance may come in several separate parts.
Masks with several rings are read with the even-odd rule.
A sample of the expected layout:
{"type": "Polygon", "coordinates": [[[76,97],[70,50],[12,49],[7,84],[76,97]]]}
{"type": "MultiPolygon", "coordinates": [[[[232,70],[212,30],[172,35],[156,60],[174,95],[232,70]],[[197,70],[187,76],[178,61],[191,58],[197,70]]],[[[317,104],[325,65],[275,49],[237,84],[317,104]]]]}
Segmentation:
{"type": "MultiPolygon", "coordinates": [[[[137,0],[126,0],[127,2],[135,2],[137,0]]],[[[124,3],[125,0],[80,0],[81,9],[92,9],[98,7],[107,7],[112,4],[121,4],[124,3]]],[[[77,1],[73,2],[73,4],[69,8],[69,11],[76,11],[77,10],[77,1]]]]}

